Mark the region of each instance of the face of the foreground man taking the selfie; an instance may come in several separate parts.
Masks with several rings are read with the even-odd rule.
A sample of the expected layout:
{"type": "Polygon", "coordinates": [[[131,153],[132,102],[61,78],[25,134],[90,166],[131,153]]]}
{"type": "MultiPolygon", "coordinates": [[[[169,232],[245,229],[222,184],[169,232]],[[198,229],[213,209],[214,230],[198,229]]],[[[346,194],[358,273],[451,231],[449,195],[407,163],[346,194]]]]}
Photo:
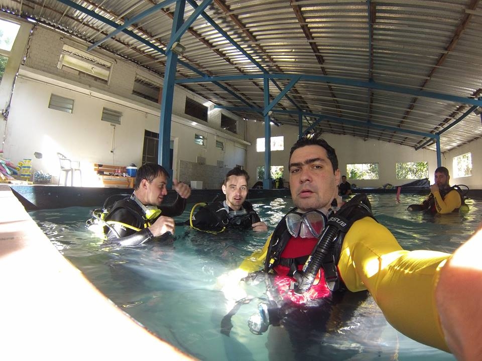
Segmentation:
{"type": "Polygon", "coordinates": [[[307,145],[296,149],[290,164],[291,198],[302,212],[319,209],[328,212],[331,201],[337,194],[340,171],[333,166],[325,148],[307,145]]]}

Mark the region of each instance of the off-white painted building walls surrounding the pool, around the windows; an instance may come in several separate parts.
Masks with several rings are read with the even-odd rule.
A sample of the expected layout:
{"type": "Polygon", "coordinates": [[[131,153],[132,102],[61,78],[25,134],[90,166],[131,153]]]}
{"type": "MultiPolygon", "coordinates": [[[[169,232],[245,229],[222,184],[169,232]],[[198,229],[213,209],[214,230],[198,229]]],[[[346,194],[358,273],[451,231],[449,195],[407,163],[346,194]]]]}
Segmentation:
{"type": "MultiPolygon", "coordinates": [[[[162,78],[134,63],[98,50],[97,56],[113,62],[109,83],[80,79],[75,74],[58,69],[57,63],[63,44],[79,49],[85,49],[86,44],[79,44],[66,35],[36,26],[27,46],[26,35],[31,24],[24,25],[22,41],[16,42],[12,51],[16,54],[13,58],[17,59],[18,64],[9,62],[4,75],[4,80],[14,79],[22,58],[19,54],[24,53],[25,65],[20,68],[9,118],[7,122],[3,121],[0,129],[5,133],[3,156],[14,163],[23,158],[33,158],[33,171],[41,169],[49,172],[56,182],[59,171],[56,153],[62,152],[81,161],[84,186],[98,185],[92,169],[93,163],[128,165],[134,162],[139,165],[144,130],[159,132],[160,105],[133,95],[133,82],[136,74],[154,79],[159,84],[162,84],[162,78]],[[74,112],[68,114],[49,109],[52,93],[74,99],[74,112]],[[109,123],[102,122],[102,107],[121,111],[122,124],[114,128],[109,123]],[[43,153],[42,159],[33,157],[36,151],[43,153]]],[[[2,82],[0,87],[0,102],[3,103],[7,96],[10,97],[10,93],[5,91],[8,88],[6,84],[8,85],[2,82]]],[[[256,139],[264,136],[264,123],[239,120],[238,134],[233,134],[221,129],[220,122],[221,110],[215,109],[214,104],[184,88],[175,87],[171,124],[171,139],[174,140],[175,148],[174,176],[179,174],[181,160],[196,162],[197,157],[202,156],[209,165],[217,165],[217,161],[223,161],[226,171],[236,164],[243,165],[251,174],[250,183],[256,182],[256,167],[265,163],[264,153],[256,151],[256,139]],[[188,95],[208,105],[208,122],[184,114],[185,98],[188,95]],[[194,143],[196,133],[207,137],[205,146],[194,143]],[[224,143],[224,150],[216,147],[216,140],[224,143]]],[[[271,164],[284,165],[284,178],[288,180],[289,150],[298,138],[298,128],[272,125],[271,132],[272,136],[284,136],[285,150],[273,151],[271,164]]],[[[410,147],[375,140],[364,141],[352,136],[325,134],[325,139],[336,149],[342,173],[346,172],[343,171],[346,163],[380,163],[380,179],[354,181],[359,187],[380,187],[386,183],[396,186],[410,182],[395,178],[396,162],[428,161],[432,180],[436,167],[436,155],[433,151],[415,151],[410,147]]],[[[472,152],[473,174],[460,179],[452,178],[451,183],[481,189],[482,169],[478,161],[482,157],[481,139],[447,152],[442,157],[442,163],[453,172],[452,158],[467,151],[472,152]]]]}

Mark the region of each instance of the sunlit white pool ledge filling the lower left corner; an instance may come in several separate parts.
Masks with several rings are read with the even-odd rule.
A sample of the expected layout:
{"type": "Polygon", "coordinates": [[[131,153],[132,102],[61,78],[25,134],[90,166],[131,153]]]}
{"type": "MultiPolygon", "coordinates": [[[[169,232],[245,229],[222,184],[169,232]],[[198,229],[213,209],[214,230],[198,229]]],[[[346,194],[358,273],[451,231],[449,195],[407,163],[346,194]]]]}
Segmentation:
{"type": "Polygon", "coordinates": [[[0,185],[0,359],[192,360],[103,296],[0,185]]]}

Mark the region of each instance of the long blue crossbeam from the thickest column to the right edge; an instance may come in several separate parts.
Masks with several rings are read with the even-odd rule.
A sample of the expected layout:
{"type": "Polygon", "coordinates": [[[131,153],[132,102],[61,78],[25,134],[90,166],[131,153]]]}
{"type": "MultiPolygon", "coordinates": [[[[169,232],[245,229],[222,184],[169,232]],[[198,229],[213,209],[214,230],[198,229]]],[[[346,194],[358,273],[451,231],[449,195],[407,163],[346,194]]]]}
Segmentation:
{"type": "Polygon", "coordinates": [[[300,76],[300,80],[308,82],[319,82],[319,83],[333,83],[340,85],[348,85],[359,88],[372,88],[378,90],[385,90],[393,93],[400,94],[411,94],[424,98],[440,99],[446,100],[454,103],[463,103],[470,105],[482,106],[482,100],[465,98],[456,95],[444,94],[431,92],[426,90],[417,90],[411,88],[405,88],[394,85],[380,84],[377,82],[368,82],[362,80],[352,80],[348,78],[339,78],[325,75],[308,75],[308,74],[246,74],[246,75],[225,75],[225,76],[204,76],[203,78],[188,78],[188,79],[178,79],[177,84],[187,84],[187,83],[205,83],[212,81],[231,81],[231,80],[246,80],[246,79],[263,79],[265,77],[272,79],[293,79],[294,77],[300,76]]]}

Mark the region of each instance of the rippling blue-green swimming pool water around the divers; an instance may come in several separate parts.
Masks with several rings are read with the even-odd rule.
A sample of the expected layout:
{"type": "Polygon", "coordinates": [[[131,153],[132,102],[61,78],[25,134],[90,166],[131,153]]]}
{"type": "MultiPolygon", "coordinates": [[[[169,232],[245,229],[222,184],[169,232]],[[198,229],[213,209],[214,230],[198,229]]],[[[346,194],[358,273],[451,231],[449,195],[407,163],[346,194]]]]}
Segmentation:
{"type": "MultiPolygon", "coordinates": [[[[377,220],[409,250],[452,252],[473,234],[482,209],[481,201],[468,200],[470,212],[465,215],[432,217],[406,211],[409,204],[420,202],[420,196],[401,195],[400,202],[395,195],[369,195],[369,199],[377,220]]],[[[252,202],[270,232],[293,206],[289,198],[252,202]]],[[[188,219],[191,206],[176,220],[188,219]]],[[[287,328],[271,325],[264,334],[255,335],[247,320],[266,299],[267,284],[232,287],[235,294],[226,299],[220,279],[261,248],[267,233],[210,235],[177,226],[172,244],[106,247],[85,229],[89,211],[71,207],[30,215],[100,291],[161,338],[194,357],[216,361],[454,359],[393,329],[365,292],[348,294],[319,312],[300,313],[287,328]],[[233,302],[243,296],[247,297],[244,303],[233,302]],[[231,317],[227,316],[229,311],[231,317]],[[314,318],[307,320],[307,315],[314,318]]]]}

